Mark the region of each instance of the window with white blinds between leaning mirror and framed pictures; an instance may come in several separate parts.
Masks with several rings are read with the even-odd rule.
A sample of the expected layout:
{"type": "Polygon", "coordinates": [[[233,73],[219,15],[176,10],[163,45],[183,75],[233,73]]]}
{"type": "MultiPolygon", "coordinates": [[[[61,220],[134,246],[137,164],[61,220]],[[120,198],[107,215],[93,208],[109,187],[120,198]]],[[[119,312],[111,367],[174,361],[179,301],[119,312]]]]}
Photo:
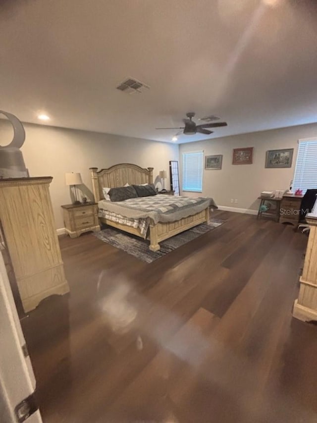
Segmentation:
{"type": "Polygon", "coordinates": [[[204,152],[183,153],[183,191],[203,191],[204,152]]]}

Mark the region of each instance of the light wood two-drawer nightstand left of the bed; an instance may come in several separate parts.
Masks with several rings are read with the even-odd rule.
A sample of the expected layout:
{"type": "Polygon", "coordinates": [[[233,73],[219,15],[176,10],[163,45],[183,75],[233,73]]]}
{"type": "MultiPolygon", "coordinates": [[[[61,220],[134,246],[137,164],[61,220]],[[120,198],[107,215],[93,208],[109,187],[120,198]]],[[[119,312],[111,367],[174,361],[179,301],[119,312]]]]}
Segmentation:
{"type": "Polygon", "coordinates": [[[95,203],[67,204],[61,207],[65,230],[70,238],[77,238],[84,232],[100,231],[98,206],[95,203]]]}

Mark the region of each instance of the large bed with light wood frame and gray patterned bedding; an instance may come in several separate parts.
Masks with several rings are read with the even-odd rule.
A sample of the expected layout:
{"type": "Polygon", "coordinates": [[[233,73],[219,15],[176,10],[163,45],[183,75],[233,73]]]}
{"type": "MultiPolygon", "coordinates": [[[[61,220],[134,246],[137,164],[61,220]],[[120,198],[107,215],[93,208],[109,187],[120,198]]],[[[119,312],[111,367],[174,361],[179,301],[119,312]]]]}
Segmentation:
{"type": "Polygon", "coordinates": [[[183,197],[184,200],[180,200],[181,197],[166,195],[153,196],[155,197],[156,205],[158,202],[161,202],[162,205],[164,205],[162,206],[164,210],[166,208],[169,209],[169,211],[162,214],[156,214],[157,209],[159,209],[158,206],[156,206],[157,209],[155,210],[149,209],[147,202],[150,200],[140,200],[140,202],[142,201],[142,207],[138,206],[138,199],[131,199],[130,202],[129,200],[123,201],[120,202],[120,204],[119,202],[111,204],[111,202],[104,200],[104,187],[117,188],[123,187],[125,184],[152,184],[153,167],[142,168],[136,164],[120,163],[101,170],[98,170],[97,167],[91,167],[90,171],[95,202],[98,204],[100,210],[100,221],[133,235],[147,238],[150,241],[149,248],[152,251],[158,251],[160,248],[159,242],[164,239],[170,238],[201,223],[208,222],[210,206],[216,208],[212,199],[200,198],[200,201],[195,203],[194,199],[188,198],[186,202],[185,197],[183,197]],[[161,200],[159,198],[161,198],[161,200]],[[203,199],[205,201],[203,201],[203,199]],[[181,201],[183,201],[184,204],[186,203],[186,207],[183,207],[184,210],[181,212],[175,209],[173,214],[173,210],[171,209],[176,207],[174,203],[178,203],[178,200],[180,203],[181,201]],[[192,205],[189,204],[190,202],[192,205]],[[111,218],[111,215],[120,215],[120,218],[114,221],[115,219],[111,218]],[[183,215],[183,217],[179,218],[181,215],[183,215]],[[131,216],[146,219],[148,222],[146,236],[144,228],[139,225],[132,226],[131,224],[127,224],[128,222],[125,218],[131,219],[131,216]]]}

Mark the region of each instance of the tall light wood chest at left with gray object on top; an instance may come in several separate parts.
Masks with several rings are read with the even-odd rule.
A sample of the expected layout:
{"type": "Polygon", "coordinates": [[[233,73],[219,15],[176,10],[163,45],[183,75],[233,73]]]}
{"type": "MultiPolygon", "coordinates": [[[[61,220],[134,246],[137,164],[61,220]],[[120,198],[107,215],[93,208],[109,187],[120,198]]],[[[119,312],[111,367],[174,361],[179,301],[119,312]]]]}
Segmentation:
{"type": "Polygon", "coordinates": [[[0,180],[0,221],[25,312],[69,291],[49,192],[51,176],[0,180]]]}

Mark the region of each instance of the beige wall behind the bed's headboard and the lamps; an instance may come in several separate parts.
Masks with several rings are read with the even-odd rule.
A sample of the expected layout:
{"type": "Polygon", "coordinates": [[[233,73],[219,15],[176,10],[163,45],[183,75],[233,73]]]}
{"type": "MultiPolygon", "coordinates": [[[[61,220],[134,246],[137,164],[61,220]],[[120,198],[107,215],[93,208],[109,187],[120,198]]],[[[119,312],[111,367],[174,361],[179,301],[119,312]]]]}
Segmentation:
{"type": "MultiPolygon", "coordinates": [[[[96,132],[24,124],[26,140],[23,157],[30,176],[53,176],[51,197],[56,228],[64,227],[60,205],[70,203],[66,172],[80,172],[83,183],[92,189],[89,167],[109,167],[134,163],[154,167],[154,180],[160,170],[168,171],[168,161],[178,159],[174,144],[127,138],[96,132]]],[[[0,145],[12,139],[12,127],[0,120],[0,145]]],[[[169,174],[169,172],[167,172],[169,174]]],[[[165,181],[168,186],[168,181],[165,181]]]]}

